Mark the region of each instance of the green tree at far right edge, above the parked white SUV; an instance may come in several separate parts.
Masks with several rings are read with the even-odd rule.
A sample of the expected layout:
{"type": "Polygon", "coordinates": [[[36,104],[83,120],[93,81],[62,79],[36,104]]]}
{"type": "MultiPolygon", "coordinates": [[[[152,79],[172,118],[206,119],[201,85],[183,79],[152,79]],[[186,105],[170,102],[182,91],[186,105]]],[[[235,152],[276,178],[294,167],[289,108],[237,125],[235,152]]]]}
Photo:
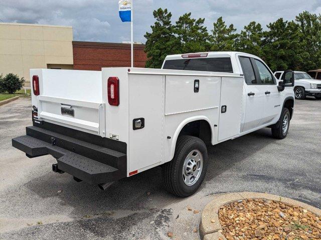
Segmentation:
{"type": "Polygon", "coordinates": [[[302,51],[299,53],[302,59],[301,70],[308,71],[321,67],[321,16],[301,12],[295,17],[299,25],[299,41],[302,51]]]}

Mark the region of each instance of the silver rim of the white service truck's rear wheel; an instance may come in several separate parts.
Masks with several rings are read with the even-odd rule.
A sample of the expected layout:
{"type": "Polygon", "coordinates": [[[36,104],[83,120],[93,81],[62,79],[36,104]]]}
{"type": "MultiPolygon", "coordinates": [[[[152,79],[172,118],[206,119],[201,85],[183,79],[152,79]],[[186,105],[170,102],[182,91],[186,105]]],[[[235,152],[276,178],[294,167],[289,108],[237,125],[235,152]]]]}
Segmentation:
{"type": "Polygon", "coordinates": [[[192,150],[183,164],[183,180],[188,186],[194,185],[201,176],[203,155],[199,150],[192,150]]]}

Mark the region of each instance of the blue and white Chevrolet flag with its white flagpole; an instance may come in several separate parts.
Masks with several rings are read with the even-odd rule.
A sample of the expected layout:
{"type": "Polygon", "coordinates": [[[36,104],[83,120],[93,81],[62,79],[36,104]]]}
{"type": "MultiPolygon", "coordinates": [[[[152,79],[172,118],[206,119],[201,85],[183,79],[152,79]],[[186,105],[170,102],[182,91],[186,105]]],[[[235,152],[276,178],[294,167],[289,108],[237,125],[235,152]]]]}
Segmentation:
{"type": "Polygon", "coordinates": [[[134,67],[134,36],[133,36],[133,7],[132,0],[120,0],[119,2],[119,16],[122,21],[130,21],[130,38],[131,38],[131,67],[134,67]]]}

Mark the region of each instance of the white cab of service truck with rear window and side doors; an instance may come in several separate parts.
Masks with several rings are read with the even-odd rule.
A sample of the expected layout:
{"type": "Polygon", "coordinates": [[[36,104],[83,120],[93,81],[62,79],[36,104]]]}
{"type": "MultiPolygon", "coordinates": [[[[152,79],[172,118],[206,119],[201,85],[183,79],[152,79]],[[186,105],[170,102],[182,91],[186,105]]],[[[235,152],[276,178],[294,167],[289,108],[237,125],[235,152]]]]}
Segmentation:
{"type": "MultiPolygon", "coordinates": [[[[259,129],[276,121],[280,117],[284,100],[291,99],[293,95],[288,87],[285,91],[279,91],[277,87],[279,80],[262,59],[244,52],[170,55],[166,57],[162,68],[234,72],[244,76],[241,106],[242,133],[259,129]]],[[[290,109],[291,114],[292,112],[290,109]]]]}

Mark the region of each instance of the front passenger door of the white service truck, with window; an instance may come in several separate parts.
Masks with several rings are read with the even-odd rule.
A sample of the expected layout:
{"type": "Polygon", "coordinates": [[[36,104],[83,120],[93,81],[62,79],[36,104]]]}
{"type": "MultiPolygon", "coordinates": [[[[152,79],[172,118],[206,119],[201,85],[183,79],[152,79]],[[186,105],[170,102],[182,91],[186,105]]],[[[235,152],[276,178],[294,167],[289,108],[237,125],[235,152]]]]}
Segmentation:
{"type": "Polygon", "coordinates": [[[254,59],[256,71],[260,78],[261,86],[264,87],[264,112],[260,125],[272,122],[279,117],[281,112],[280,93],[277,89],[276,80],[268,67],[260,60],[254,59]]]}

